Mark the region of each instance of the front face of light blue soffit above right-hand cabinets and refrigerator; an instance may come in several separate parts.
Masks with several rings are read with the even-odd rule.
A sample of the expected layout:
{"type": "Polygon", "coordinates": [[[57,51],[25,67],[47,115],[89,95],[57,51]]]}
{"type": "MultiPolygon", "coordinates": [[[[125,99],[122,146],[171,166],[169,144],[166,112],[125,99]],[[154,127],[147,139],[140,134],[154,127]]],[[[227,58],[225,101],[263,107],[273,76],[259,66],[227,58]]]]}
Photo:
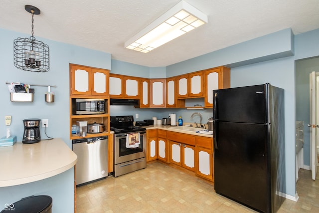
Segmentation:
{"type": "Polygon", "coordinates": [[[290,28],[229,46],[167,66],[167,77],[217,66],[236,67],[292,56],[294,36],[290,28]],[[180,67],[183,67],[182,69],[180,67]]]}

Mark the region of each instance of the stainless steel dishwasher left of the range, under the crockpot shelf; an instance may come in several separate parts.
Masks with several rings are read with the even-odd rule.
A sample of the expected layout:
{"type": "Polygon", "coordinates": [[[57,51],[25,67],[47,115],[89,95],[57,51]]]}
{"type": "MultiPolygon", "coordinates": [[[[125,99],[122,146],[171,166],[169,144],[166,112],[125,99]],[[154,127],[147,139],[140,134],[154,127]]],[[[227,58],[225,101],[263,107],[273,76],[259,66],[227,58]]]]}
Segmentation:
{"type": "Polygon", "coordinates": [[[72,140],[72,150],[78,156],[76,185],[83,185],[108,176],[108,137],[72,140]]]}

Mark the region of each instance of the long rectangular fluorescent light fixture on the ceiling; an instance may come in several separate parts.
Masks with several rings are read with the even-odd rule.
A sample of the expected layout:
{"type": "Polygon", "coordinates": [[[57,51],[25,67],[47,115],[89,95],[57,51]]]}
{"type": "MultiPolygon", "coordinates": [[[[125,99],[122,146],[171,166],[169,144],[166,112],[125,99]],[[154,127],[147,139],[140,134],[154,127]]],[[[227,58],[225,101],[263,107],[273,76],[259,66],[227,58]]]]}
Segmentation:
{"type": "Polygon", "coordinates": [[[206,14],[182,0],[126,41],[124,46],[147,53],[207,23],[207,20],[206,14]]]}

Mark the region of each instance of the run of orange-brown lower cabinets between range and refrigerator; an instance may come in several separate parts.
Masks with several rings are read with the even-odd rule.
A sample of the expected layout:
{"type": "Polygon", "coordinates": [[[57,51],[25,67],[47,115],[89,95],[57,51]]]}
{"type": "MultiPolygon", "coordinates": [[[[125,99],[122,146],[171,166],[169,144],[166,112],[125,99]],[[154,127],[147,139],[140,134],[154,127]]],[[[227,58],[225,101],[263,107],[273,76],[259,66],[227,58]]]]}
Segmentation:
{"type": "Polygon", "coordinates": [[[147,161],[160,160],[213,181],[213,138],[169,130],[147,131],[147,161]]]}

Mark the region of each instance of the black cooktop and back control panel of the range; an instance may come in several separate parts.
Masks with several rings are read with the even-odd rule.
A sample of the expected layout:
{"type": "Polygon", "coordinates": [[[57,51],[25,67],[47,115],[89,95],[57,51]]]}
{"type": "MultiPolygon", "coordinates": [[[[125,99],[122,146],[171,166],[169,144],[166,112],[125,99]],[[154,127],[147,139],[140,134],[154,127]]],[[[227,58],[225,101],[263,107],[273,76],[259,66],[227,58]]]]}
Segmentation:
{"type": "Polygon", "coordinates": [[[134,126],[133,122],[133,115],[111,116],[110,130],[114,131],[115,133],[146,131],[146,128],[134,126]]]}

